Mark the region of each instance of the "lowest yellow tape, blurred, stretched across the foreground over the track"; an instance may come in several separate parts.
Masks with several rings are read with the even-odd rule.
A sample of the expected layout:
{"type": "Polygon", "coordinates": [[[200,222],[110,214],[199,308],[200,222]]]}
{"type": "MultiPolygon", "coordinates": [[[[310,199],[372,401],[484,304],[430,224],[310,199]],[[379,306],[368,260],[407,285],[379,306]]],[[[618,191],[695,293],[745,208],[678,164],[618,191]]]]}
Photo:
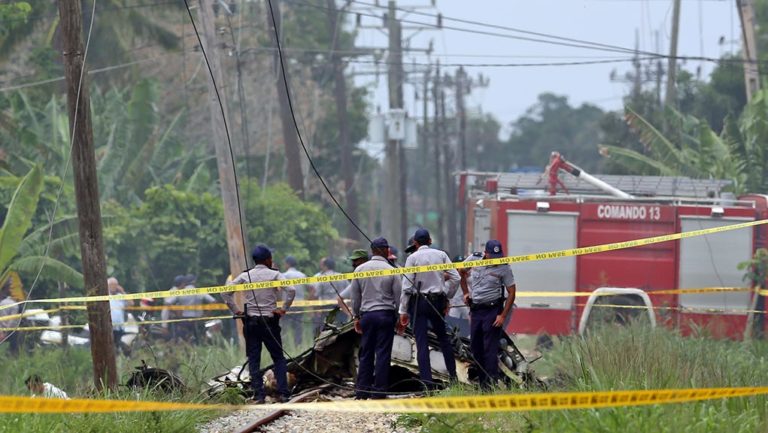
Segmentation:
{"type": "Polygon", "coordinates": [[[489,413],[647,406],[765,394],[768,394],[768,387],[693,388],[345,400],[285,403],[267,406],[231,406],[129,400],[61,400],[0,396],[0,413],[108,413],[227,409],[265,410],[276,408],[333,412],[489,413]]]}

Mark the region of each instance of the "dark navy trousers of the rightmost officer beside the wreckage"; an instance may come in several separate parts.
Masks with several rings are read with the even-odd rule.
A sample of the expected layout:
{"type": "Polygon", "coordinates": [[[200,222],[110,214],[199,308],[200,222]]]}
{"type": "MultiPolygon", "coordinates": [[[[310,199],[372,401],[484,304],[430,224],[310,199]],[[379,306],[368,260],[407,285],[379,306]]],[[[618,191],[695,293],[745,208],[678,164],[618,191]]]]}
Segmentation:
{"type": "Polygon", "coordinates": [[[499,378],[501,327],[493,326],[501,306],[473,309],[470,313],[470,346],[480,370],[480,385],[490,387],[499,378]]]}

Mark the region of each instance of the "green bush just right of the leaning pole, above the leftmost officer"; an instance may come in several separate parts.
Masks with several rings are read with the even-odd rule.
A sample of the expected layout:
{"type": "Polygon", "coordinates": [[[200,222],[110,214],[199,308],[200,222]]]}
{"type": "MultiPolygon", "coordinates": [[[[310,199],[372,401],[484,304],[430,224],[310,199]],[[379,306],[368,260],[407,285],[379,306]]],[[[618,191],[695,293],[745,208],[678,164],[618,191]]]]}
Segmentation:
{"type": "Polygon", "coordinates": [[[292,255],[301,266],[314,268],[338,237],[320,206],[302,201],[288,185],[262,191],[256,181],[246,181],[241,188],[248,240],[273,248],[276,263],[292,255]]]}

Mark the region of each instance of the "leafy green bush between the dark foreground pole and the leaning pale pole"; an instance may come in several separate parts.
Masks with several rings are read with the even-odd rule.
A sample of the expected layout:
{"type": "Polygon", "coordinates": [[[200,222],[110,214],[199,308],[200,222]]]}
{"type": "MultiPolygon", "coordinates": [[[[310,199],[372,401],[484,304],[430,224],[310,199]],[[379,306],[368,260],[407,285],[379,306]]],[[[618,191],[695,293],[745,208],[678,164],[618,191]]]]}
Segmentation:
{"type": "Polygon", "coordinates": [[[229,266],[221,200],[171,185],[144,195],[138,206],[104,206],[114,216],[104,229],[110,273],[131,291],[162,290],[190,272],[200,285],[223,283],[229,266]]]}

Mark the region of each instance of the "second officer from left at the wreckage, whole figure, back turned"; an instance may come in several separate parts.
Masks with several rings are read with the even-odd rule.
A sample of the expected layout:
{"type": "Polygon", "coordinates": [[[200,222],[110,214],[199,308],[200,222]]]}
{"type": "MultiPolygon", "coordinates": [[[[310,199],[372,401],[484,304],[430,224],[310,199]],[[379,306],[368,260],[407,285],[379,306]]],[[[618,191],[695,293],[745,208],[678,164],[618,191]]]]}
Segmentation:
{"type": "MultiPolygon", "coordinates": [[[[387,260],[389,243],[386,239],[374,239],[371,252],[373,257],[358,266],[355,273],[392,269],[387,260]]],[[[352,280],[350,287],[355,331],[362,334],[356,397],[384,398],[389,384],[389,361],[400,302],[400,277],[362,278],[352,280]]]]}

